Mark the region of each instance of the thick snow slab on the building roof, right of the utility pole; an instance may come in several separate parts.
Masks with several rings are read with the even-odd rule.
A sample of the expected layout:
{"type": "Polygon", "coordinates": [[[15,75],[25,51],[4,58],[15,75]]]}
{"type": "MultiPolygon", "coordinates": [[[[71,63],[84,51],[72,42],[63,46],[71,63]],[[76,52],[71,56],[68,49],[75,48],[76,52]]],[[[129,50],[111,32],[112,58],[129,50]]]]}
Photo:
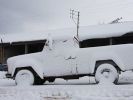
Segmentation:
{"type": "Polygon", "coordinates": [[[103,24],[81,27],[79,30],[80,41],[94,38],[109,38],[122,36],[133,32],[133,22],[121,22],[115,24],[103,24]]]}

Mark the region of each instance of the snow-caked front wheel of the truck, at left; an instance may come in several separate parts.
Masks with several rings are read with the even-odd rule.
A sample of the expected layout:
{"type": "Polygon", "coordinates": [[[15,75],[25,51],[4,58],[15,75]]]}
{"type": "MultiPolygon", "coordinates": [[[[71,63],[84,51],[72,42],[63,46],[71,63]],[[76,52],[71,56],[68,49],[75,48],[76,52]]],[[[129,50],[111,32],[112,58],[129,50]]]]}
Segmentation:
{"type": "Polygon", "coordinates": [[[30,70],[20,70],[17,72],[15,77],[15,82],[17,85],[33,85],[34,84],[34,75],[30,70]]]}

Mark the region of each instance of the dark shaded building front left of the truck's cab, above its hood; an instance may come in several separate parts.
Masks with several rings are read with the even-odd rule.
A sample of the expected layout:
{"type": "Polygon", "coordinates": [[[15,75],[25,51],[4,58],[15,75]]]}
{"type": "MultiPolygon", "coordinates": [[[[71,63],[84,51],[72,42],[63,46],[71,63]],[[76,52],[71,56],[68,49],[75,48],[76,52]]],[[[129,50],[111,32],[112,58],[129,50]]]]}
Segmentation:
{"type": "Polygon", "coordinates": [[[23,44],[15,44],[15,45],[5,45],[0,47],[0,63],[6,63],[6,60],[9,57],[27,54],[27,53],[34,53],[42,51],[43,43],[23,43],[23,44]],[[2,51],[3,49],[3,51],[2,51]]]}

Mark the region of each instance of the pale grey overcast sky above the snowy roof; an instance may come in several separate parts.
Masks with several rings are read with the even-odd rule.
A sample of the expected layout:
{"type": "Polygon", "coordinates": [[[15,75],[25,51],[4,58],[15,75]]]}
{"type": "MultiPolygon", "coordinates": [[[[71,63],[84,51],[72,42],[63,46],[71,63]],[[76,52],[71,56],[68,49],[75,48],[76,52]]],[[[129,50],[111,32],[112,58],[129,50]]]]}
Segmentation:
{"type": "Polygon", "coordinates": [[[43,32],[74,27],[70,8],[80,11],[80,26],[133,21],[133,0],[0,0],[0,33],[43,32]]]}

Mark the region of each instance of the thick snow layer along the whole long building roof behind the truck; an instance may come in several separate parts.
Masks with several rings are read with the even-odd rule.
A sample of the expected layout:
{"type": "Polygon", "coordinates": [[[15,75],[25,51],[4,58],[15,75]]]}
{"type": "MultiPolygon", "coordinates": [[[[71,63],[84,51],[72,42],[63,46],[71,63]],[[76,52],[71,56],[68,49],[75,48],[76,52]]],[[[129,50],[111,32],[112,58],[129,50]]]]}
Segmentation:
{"type": "MultiPolygon", "coordinates": [[[[133,22],[123,22],[116,24],[103,24],[93,26],[82,26],[79,28],[80,41],[94,38],[117,37],[133,32],[133,22]]],[[[43,33],[23,33],[23,34],[0,34],[3,43],[46,40],[51,34],[53,39],[68,39],[76,35],[75,28],[50,30],[43,33]]]]}

